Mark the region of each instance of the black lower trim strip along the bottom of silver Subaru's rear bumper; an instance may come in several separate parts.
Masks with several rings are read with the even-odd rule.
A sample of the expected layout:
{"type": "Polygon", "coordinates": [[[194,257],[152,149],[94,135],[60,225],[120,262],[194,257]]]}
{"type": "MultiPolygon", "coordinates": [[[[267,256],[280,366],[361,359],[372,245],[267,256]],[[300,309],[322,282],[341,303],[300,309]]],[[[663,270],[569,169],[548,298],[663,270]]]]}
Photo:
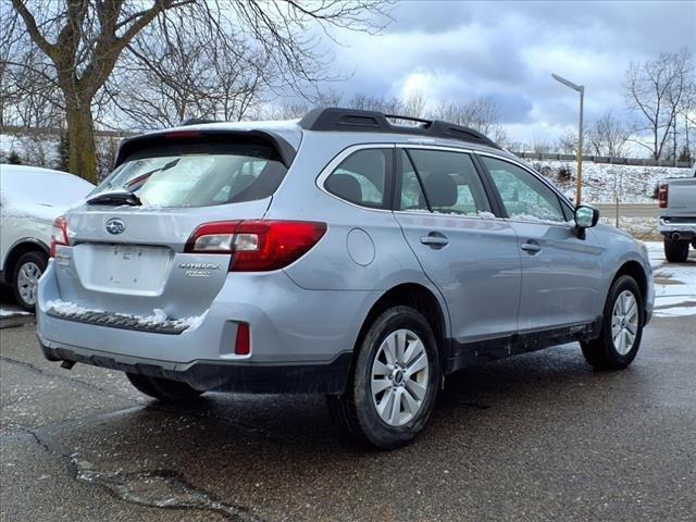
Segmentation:
{"type": "Polygon", "coordinates": [[[39,337],[44,356],[51,361],[67,361],[162,377],[187,383],[200,390],[250,394],[341,394],[352,361],[343,352],[333,361],[315,364],[249,364],[239,362],[192,361],[172,363],[152,359],[114,356],[77,348],[39,337]]]}

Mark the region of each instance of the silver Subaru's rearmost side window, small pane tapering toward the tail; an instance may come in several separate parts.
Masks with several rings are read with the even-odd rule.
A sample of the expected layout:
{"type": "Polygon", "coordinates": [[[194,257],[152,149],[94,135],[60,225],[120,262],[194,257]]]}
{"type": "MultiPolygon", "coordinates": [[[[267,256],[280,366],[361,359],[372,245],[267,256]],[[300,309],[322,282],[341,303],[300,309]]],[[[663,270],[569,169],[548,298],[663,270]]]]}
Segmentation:
{"type": "Polygon", "coordinates": [[[388,207],[391,149],[363,149],[346,158],[324,182],[331,194],[375,209],[388,207]]]}

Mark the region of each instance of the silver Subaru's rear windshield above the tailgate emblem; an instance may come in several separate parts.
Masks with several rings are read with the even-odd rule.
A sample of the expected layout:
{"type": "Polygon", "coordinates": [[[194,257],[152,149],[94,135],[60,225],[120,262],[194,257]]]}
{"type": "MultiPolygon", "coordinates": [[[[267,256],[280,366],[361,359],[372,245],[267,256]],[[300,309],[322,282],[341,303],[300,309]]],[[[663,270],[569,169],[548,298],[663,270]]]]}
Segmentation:
{"type": "Polygon", "coordinates": [[[145,206],[210,207],[268,198],[286,172],[265,145],[167,144],[128,156],[94,194],[128,190],[145,206]]]}

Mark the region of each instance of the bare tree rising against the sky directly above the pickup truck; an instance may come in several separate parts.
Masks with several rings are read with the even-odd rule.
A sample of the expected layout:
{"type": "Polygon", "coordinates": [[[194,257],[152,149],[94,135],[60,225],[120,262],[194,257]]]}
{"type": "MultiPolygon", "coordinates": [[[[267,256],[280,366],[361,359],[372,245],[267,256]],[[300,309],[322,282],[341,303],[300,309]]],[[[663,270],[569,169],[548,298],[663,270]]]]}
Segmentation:
{"type": "Polygon", "coordinates": [[[691,54],[662,53],[656,60],[632,63],[626,72],[626,101],[643,119],[637,132],[648,132],[648,142],[636,140],[659,160],[670,132],[676,129],[682,97],[692,76],[691,54]]]}

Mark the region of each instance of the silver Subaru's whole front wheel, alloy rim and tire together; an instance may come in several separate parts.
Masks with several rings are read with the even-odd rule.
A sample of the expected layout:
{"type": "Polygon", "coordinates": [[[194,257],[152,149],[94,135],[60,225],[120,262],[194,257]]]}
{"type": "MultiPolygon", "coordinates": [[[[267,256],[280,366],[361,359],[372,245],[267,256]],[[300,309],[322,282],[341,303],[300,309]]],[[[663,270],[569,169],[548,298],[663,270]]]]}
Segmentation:
{"type": "Polygon", "coordinates": [[[596,370],[622,370],[638,352],[643,336],[643,297],[635,279],[622,275],[611,285],[598,338],[582,343],[596,370]]]}

